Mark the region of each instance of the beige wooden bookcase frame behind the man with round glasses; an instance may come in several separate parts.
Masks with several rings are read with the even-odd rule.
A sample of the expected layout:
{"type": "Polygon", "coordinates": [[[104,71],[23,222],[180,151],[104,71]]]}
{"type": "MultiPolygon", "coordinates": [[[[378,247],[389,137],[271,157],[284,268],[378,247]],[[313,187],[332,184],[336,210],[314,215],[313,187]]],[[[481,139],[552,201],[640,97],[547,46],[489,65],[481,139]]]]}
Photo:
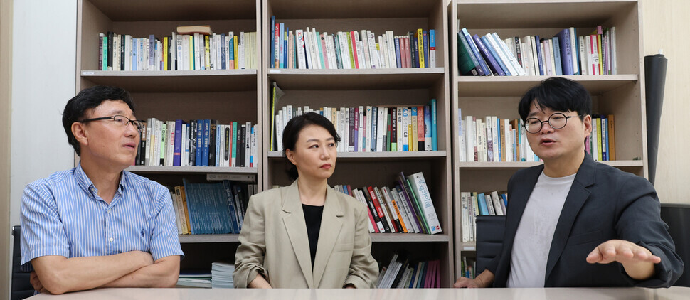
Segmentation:
{"type": "Polygon", "coordinates": [[[460,276],[462,256],[474,257],[475,243],[462,242],[460,192],[506,191],[508,179],[517,170],[539,162],[460,162],[457,109],[462,115],[518,119],[517,104],[529,87],[547,76],[469,77],[457,72],[457,31],[466,27],[480,36],[497,32],[510,36],[555,36],[575,27],[578,35],[598,25],[617,28],[618,75],[564,76],[580,82],[593,97],[593,112],[615,114],[616,161],[603,161],[623,171],[647,177],[647,135],[644,108],[644,64],[639,1],[599,0],[452,0],[448,6],[452,95],[453,203],[455,224],[455,269],[460,276]],[[499,16],[499,17],[497,17],[499,16]],[[458,25],[459,24],[459,25],[458,25]]]}

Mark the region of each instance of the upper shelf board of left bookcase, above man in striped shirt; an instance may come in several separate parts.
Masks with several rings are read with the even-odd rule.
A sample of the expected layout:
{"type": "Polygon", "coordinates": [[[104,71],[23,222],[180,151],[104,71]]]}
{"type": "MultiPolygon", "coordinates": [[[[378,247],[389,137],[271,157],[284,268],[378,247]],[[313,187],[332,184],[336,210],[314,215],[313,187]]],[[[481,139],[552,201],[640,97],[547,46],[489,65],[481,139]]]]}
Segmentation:
{"type": "Polygon", "coordinates": [[[129,92],[255,91],[257,70],[81,71],[95,85],[115,85],[129,92]],[[228,84],[233,82],[233,84],[228,84]]]}

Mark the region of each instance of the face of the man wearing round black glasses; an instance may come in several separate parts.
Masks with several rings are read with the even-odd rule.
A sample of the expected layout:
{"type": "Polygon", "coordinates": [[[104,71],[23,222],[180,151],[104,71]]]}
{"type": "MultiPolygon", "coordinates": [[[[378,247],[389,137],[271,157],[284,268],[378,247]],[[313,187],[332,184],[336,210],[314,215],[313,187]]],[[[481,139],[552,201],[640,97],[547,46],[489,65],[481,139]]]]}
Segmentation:
{"type": "MultiPolygon", "coordinates": [[[[539,107],[536,101],[530,105],[527,118],[536,118],[546,121],[552,114],[557,113],[548,107],[539,107]]],[[[561,129],[553,129],[548,122],[543,122],[541,130],[527,134],[527,141],[534,154],[549,161],[567,161],[578,158],[585,151],[585,138],[592,131],[592,117],[587,115],[583,120],[578,117],[578,112],[561,112],[566,117],[566,126],[561,129]]]]}

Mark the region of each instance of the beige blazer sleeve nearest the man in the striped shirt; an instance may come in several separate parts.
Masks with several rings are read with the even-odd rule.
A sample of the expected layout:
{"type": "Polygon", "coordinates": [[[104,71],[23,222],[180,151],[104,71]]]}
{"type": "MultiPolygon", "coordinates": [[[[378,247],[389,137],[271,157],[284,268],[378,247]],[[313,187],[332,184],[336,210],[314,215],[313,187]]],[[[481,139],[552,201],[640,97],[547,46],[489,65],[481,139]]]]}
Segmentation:
{"type": "Polygon", "coordinates": [[[260,198],[253,195],[247,205],[247,213],[240,230],[240,246],[235,252],[235,287],[244,288],[256,278],[257,274],[268,277],[263,266],[266,253],[265,214],[260,198]]]}

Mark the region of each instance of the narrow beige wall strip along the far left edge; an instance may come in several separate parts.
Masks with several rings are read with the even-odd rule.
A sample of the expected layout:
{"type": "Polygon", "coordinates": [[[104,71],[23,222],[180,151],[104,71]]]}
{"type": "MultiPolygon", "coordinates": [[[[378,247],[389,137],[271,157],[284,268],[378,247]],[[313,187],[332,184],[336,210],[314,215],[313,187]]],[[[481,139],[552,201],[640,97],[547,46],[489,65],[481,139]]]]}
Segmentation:
{"type": "Polygon", "coordinates": [[[12,0],[0,0],[0,299],[9,299],[12,0]]]}

